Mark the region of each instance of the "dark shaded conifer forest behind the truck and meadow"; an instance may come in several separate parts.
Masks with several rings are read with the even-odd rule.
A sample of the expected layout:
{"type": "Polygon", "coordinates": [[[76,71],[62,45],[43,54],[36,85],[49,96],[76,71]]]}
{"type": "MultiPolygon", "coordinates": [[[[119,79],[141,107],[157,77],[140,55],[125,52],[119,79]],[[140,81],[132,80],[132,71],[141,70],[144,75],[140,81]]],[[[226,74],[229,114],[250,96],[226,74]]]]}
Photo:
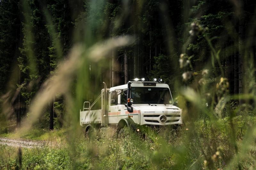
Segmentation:
{"type": "MultiPolygon", "coordinates": [[[[104,61],[86,63],[81,73],[89,82],[84,100],[96,99],[103,81],[112,87],[142,77],[162,78],[178,95],[178,84],[204,83],[197,76],[204,69],[210,85],[216,86],[222,77],[228,82],[227,93],[246,93],[245,87],[255,87],[247,79],[248,74],[255,78],[255,4],[253,0],[1,0],[0,94],[1,102],[10,106],[2,109],[8,112],[5,118],[16,119],[19,126],[36,92],[75,44],[88,48],[125,35],[134,38],[132,45],[112,50],[104,61]]],[[[78,79],[70,88],[74,96],[77,83],[78,79]]],[[[218,92],[213,98],[217,101],[218,92]]],[[[233,100],[234,105],[239,102],[243,103],[233,100]]],[[[65,97],[56,94],[43,113],[40,127],[61,127],[65,97]]]]}

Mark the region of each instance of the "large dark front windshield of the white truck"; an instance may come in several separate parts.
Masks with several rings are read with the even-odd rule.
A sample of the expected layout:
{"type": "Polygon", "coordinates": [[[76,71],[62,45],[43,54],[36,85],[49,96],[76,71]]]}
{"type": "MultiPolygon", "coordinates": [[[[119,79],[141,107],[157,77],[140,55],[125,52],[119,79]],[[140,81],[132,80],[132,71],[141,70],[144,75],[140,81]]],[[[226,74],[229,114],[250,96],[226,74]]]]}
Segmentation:
{"type": "Polygon", "coordinates": [[[132,87],[133,104],[169,104],[171,93],[163,87],[132,87]]]}

